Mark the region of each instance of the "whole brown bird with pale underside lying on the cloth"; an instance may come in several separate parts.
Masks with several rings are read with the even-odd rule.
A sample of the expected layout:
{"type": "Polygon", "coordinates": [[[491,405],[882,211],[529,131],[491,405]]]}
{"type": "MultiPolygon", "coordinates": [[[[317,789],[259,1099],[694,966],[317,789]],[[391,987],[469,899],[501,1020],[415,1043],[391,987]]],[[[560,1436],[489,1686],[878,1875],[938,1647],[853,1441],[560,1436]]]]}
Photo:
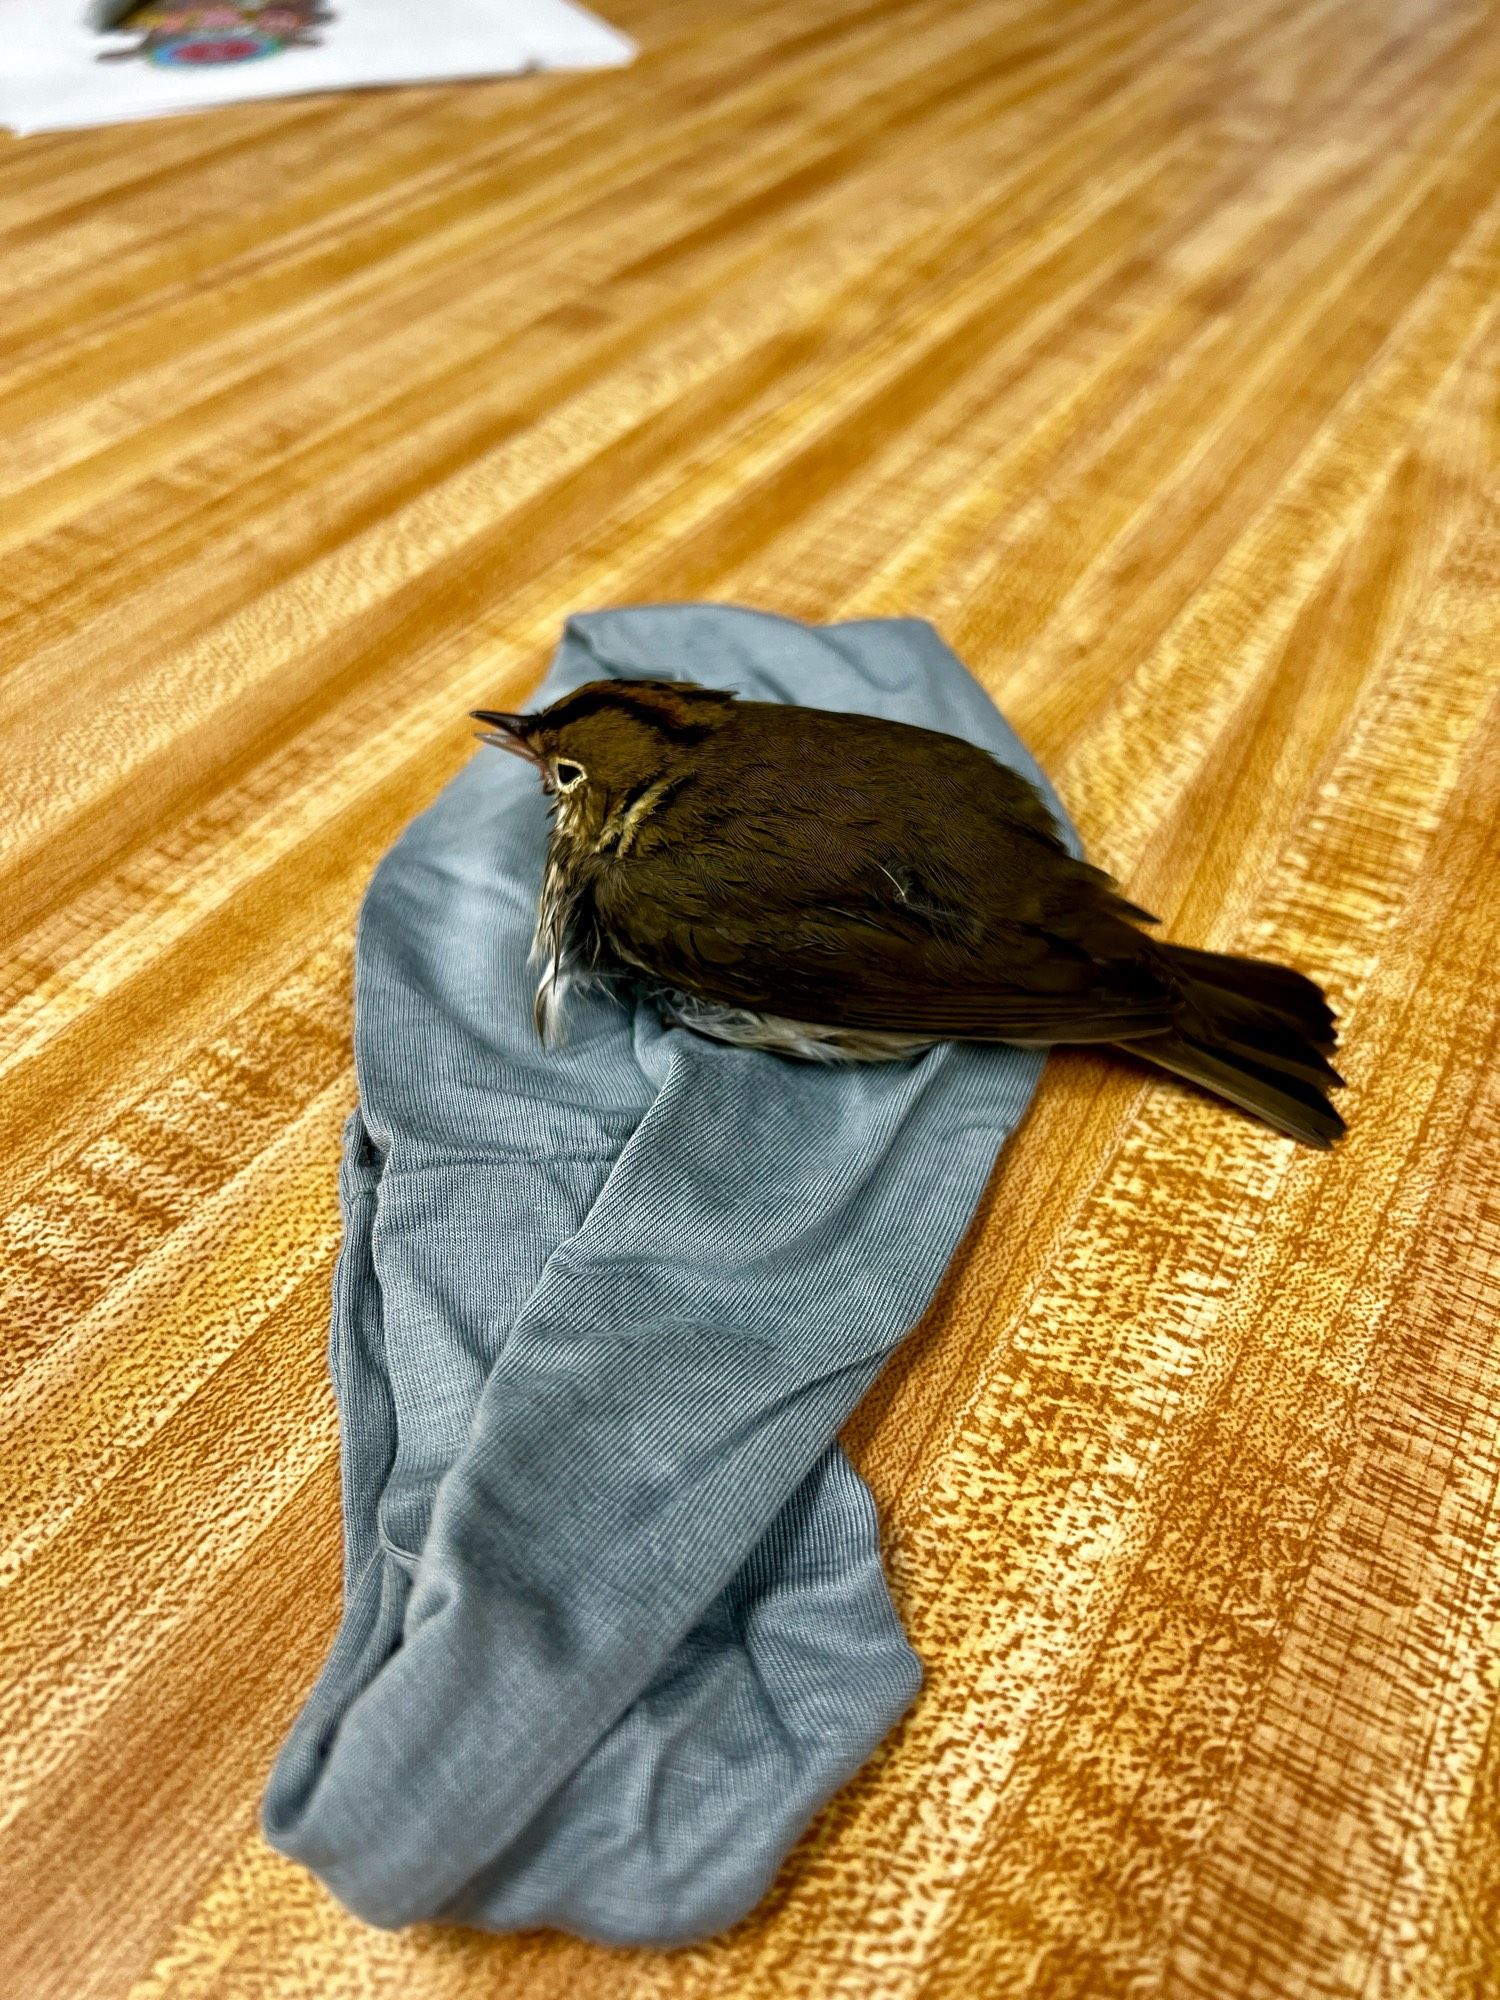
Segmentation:
{"type": "Polygon", "coordinates": [[[636,982],[804,1060],[1116,1042],[1310,1146],[1344,1130],[1320,988],[1150,938],[1036,786],[958,736],[674,680],[474,720],[552,798],[542,1036],[568,984],[636,982]]]}

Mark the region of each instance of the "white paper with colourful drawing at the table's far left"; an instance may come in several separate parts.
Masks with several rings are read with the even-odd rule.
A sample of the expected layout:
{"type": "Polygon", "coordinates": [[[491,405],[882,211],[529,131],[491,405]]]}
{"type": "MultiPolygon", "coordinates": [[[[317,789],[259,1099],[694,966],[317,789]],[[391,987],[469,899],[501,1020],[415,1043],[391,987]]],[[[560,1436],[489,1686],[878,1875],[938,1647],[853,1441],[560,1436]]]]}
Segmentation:
{"type": "Polygon", "coordinates": [[[592,70],[636,52],[572,0],[162,0],[148,32],[90,24],[118,12],[120,0],[0,0],[0,126],[54,132],[306,90],[592,70]]]}

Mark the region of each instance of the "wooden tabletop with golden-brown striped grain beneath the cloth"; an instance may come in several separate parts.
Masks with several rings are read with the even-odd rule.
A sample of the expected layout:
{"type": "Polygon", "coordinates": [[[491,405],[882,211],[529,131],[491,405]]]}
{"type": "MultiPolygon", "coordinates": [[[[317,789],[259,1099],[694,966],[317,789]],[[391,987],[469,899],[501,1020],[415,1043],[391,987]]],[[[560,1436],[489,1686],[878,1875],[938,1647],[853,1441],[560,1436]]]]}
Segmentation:
{"type": "Polygon", "coordinates": [[[1496,1992],[1500,14],[610,14],[0,142],[0,1990],[1496,1992]],[[908,1724],[714,1944],[384,1936],[254,1818],[352,920],[650,598],[936,620],[1132,894],[1328,980],[1352,1132],[1056,1058],[852,1426],[908,1724]]]}

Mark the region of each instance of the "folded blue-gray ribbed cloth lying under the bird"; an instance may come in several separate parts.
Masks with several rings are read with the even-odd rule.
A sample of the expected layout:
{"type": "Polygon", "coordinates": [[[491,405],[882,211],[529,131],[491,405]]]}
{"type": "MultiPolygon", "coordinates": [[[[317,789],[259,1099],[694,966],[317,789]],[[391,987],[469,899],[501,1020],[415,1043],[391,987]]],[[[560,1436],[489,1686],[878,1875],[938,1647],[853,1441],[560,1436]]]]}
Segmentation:
{"type": "MultiPolygon", "coordinates": [[[[1040,772],[930,626],[574,618],[600,676],[924,722],[1040,772]]],[[[546,816],[476,754],[380,864],[330,1366],[344,1620],[264,1800],[372,1924],[630,1944],[750,1910],[912,1702],[836,1432],[920,1318],[1042,1056],[808,1068],[574,994],[546,816]]]]}

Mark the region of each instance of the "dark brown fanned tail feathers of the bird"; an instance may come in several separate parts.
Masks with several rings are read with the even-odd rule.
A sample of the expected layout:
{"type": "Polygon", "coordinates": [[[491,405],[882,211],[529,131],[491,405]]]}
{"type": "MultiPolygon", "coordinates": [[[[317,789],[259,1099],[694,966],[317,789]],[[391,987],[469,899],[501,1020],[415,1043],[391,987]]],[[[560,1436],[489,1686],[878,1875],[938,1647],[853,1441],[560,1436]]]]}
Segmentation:
{"type": "Polygon", "coordinates": [[[1308,1146],[1332,1146],[1344,1120],[1328,1102],[1342,1082],[1322,990],[1288,966],[1182,946],[1154,948],[1182,994],[1176,1026],[1126,1046],[1202,1084],[1308,1146]]]}

